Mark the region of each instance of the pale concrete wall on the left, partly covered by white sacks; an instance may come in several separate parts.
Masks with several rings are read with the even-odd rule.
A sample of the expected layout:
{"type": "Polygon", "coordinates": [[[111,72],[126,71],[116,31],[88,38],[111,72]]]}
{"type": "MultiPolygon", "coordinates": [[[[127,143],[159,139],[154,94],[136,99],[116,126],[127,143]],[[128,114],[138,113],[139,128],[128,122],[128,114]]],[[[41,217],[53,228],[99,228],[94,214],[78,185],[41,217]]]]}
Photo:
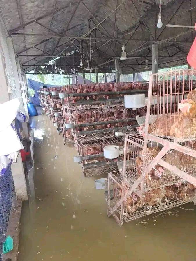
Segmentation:
{"type": "MultiPolygon", "coordinates": [[[[19,61],[16,59],[12,39],[7,33],[3,19],[0,19],[0,70],[0,103],[17,97],[20,101],[19,108],[28,116],[24,91],[25,81],[22,79],[23,72],[19,66],[19,61]]],[[[23,123],[23,131],[28,139],[26,123],[23,123]]],[[[11,168],[16,195],[22,200],[27,200],[26,180],[20,153],[17,162],[12,164],[11,168]]]]}

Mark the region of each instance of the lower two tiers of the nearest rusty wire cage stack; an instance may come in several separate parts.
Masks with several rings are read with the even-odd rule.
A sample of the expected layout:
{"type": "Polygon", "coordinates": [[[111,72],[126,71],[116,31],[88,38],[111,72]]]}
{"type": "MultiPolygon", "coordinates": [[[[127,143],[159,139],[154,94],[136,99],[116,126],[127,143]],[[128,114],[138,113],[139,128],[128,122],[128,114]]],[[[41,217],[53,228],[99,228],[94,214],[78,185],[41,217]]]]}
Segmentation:
{"type": "MultiPolygon", "coordinates": [[[[171,140],[157,139],[146,143],[146,137],[136,131],[125,135],[123,169],[117,173],[121,186],[116,182],[121,197],[108,205],[108,215],[119,225],[187,202],[196,203],[196,144],[186,141],[172,148],[171,140]]],[[[114,181],[117,174],[109,174],[109,178],[114,181]]]]}

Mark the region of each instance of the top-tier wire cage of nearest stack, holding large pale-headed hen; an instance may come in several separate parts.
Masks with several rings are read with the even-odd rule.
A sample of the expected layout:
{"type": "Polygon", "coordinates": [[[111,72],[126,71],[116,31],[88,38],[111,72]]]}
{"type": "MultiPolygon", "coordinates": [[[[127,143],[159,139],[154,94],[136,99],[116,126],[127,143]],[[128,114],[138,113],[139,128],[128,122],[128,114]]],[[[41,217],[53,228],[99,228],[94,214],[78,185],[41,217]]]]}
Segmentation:
{"type": "Polygon", "coordinates": [[[195,139],[196,70],[175,70],[151,75],[146,125],[161,137],[195,139]]]}

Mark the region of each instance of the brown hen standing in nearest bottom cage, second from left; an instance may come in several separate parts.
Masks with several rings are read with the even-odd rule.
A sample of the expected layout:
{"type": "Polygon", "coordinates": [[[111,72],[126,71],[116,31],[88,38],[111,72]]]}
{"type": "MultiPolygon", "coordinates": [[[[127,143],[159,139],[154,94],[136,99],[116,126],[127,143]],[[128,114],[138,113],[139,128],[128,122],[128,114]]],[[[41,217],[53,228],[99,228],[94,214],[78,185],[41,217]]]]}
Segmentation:
{"type": "Polygon", "coordinates": [[[149,213],[151,212],[152,206],[156,204],[162,205],[162,199],[165,196],[165,189],[153,189],[144,192],[144,197],[142,198],[143,204],[148,204],[150,206],[149,213]]]}

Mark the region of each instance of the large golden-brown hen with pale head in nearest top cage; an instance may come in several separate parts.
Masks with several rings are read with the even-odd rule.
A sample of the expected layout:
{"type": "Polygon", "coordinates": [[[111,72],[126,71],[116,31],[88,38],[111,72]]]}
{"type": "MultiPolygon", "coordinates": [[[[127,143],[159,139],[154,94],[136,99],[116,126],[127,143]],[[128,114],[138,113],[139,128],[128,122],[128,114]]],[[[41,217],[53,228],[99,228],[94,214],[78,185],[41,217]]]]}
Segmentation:
{"type": "Polygon", "coordinates": [[[176,138],[196,137],[196,102],[181,100],[178,104],[179,117],[170,128],[170,136],[176,138]]]}

